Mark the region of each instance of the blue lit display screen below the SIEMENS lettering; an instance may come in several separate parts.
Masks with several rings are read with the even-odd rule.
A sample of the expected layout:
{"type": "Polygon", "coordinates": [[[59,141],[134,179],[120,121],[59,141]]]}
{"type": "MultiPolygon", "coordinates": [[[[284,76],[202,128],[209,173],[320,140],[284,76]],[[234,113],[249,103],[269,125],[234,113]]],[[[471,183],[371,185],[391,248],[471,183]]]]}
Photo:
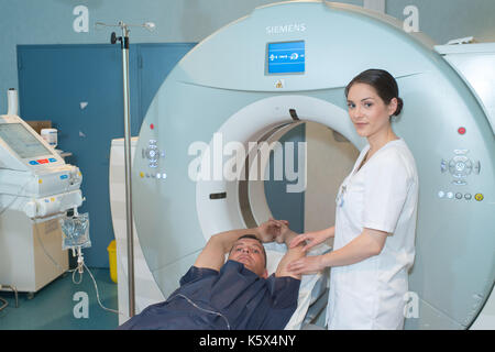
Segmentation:
{"type": "Polygon", "coordinates": [[[268,43],[267,74],[304,74],[305,58],[305,41],[268,43]]]}

